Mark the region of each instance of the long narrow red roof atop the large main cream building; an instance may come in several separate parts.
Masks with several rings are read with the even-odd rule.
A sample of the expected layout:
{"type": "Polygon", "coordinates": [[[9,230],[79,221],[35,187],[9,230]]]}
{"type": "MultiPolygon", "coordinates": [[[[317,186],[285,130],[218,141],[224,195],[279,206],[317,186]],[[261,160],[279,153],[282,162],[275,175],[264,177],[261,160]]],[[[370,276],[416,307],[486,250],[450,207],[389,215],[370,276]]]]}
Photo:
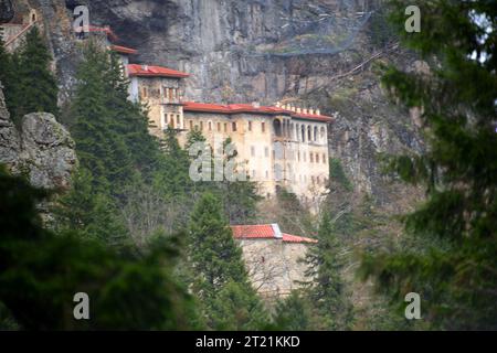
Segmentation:
{"type": "Polygon", "coordinates": [[[295,113],[292,110],[286,110],[278,107],[273,106],[253,106],[252,104],[230,104],[230,105],[221,105],[221,104],[208,104],[208,103],[195,103],[195,101],[186,101],[183,106],[184,111],[201,111],[201,113],[218,113],[218,114],[240,114],[240,113],[253,113],[253,114],[264,114],[264,115],[289,115],[296,119],[306,119],[306,120],[317,120],[329,122],[332,121],[331,117],[327,117],[324,115],[317,114],[303,114],[295,113]]]}

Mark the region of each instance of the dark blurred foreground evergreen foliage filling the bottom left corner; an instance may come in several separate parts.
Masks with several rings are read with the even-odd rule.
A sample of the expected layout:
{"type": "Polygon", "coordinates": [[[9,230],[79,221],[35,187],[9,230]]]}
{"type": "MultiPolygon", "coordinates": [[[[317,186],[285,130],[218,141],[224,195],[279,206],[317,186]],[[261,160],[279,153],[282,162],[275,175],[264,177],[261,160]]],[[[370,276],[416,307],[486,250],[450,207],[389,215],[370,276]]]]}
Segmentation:
{"type": "Polygon", "coordinates": [[[75,232],[54,234],[38,215],[44,196],[0,167],[0,315],[8,310],[25,330],[191,328],[192,301],[173,279],[170,240],[159,237],[136,256],[75,232]],[[74,319],[76,292],[89,296],[91,320],[74,319]]]}

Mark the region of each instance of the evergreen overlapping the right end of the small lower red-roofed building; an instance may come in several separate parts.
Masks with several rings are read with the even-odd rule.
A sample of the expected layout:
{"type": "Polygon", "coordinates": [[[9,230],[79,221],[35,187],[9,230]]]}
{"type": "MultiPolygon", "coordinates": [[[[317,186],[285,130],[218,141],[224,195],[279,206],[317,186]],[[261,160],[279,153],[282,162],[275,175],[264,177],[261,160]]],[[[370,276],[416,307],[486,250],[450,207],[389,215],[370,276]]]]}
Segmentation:
{"type": "Polygon", "coordinates": [[[349,330],[353,319],[352,306],[341,276],[340,244],[334,234],[328,213],[322,215],[317,239],[319,243],[309,248],[306,255],[313,328],[326,331],[349,330]]]}

